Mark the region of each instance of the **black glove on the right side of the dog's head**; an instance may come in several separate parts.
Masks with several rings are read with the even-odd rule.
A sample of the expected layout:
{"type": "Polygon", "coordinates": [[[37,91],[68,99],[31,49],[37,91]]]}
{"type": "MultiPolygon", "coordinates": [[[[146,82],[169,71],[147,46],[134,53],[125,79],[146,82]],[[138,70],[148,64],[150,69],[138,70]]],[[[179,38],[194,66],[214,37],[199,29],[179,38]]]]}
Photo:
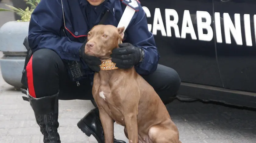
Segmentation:
{"type": "Polygon", "coordinates": [[[131,68],[143,60],[144,51],[141,48],[135,47],[130,43],[119,44],[120,48],[112,50],[112,62],[116,63],[118,68],[131,68]]]}

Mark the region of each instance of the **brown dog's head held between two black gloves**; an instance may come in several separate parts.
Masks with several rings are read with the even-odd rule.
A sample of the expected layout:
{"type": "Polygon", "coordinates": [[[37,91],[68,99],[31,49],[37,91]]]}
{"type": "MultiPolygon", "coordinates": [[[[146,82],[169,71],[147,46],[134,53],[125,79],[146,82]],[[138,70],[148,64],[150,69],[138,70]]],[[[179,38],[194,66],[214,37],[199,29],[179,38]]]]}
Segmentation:
{"type": "Polygon", "coordinates": [[[113,25],[96,25],[87,35],[85,54],[109,59],[110,54],[122,42],[124,27],[116,28],[113,25]]]}

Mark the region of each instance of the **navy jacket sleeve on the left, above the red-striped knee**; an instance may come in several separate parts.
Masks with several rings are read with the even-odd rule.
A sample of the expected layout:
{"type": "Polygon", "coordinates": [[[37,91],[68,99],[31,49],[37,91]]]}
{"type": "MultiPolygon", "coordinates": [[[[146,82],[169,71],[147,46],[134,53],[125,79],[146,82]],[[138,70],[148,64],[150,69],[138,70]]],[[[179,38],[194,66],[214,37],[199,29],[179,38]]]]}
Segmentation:
{"type": "Polygon", "coordinates": [[[48,48],[62,59],[79,61],[79,49],[83,45],[61,37],[63,25],[61,0],[41,0],[31,15],[28,32],[30,48],[48,48]]]}

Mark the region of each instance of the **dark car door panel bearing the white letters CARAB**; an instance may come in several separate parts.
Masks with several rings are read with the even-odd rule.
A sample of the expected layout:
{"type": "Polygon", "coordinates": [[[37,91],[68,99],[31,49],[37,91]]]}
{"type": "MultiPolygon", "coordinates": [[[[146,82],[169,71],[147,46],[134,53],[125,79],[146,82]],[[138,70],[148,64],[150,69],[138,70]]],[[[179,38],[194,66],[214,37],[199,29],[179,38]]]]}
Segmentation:
{"type": "Polygon", "coordinates": [[[160,52],[159,64],[174,68],[182,82],[222,87],[215,53],[212,0],[140,2],[160,52]]]}

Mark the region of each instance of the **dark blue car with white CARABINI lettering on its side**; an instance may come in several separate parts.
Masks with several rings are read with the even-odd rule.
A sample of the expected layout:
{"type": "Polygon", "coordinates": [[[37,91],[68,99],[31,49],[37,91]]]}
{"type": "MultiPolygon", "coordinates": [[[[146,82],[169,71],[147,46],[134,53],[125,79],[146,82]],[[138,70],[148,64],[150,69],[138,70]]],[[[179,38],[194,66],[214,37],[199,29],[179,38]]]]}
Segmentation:
{"type": "Polygon", "coordinates": [[[255,0],[140,0],[180,96],[256,107],[255,0]]]}

